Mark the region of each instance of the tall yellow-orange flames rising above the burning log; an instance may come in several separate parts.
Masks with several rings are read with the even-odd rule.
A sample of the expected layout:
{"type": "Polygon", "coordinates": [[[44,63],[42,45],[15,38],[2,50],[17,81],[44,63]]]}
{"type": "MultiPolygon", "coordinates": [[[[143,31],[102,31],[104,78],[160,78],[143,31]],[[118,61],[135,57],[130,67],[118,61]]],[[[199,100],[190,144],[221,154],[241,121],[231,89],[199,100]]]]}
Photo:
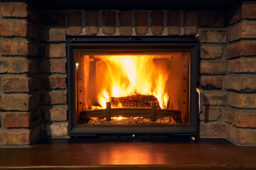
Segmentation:
{"type": "MultiPolygon", "coordinates": [[[[96,63],[97,102],[106,108],[110,97],[132,96],[135,94],[155,96],[161,108],[167,108],[169,94],[166,81],[169,71],[154,62],[156,55],[94,55],[96,63]]],[[[162,57],[162,56],[161,56],[162,57]]],[[[171,57],[169,55],[168,57],[171,57]]],[[[118,107],[122,107],[119,105],[118,107]]]]}

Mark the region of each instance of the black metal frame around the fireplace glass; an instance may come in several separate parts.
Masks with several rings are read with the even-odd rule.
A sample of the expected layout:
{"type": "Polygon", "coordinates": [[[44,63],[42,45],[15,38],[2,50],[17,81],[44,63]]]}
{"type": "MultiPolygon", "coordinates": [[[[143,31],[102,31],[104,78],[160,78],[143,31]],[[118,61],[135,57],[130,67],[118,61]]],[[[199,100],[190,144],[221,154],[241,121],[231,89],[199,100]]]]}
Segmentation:
{"type": "Polygon", "coordinates": [[[83,36],[67,38],[68,55],[68,134],[112,135],[112,134],[168,134],[198,135],[198,38],[191,36],[83,36]],[[189,125],[169,126],[77,126],[75,110],[75,50],[78,49],[132,49],[132,50],[178,50],[191,52],[190,118],[189,125]]]}

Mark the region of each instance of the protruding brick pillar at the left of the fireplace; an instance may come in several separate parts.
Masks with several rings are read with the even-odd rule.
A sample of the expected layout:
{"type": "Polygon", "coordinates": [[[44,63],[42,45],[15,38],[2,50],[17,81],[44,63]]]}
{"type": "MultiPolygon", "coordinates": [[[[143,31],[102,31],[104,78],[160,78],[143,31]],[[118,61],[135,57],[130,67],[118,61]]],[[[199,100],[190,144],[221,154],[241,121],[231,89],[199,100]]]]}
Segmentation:
{"type": "Polygon", "coordinates": [[[41,135],[36,18],[25,3],[0,3],[0,145],[28,145],[41,135]]]}

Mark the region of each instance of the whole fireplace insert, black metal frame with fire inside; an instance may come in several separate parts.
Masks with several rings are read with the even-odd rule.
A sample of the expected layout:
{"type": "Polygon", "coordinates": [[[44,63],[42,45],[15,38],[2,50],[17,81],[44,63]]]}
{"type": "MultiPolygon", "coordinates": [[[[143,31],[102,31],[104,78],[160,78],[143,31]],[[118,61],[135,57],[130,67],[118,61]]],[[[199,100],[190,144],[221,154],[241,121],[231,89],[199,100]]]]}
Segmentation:
{"type": "Polygon", "coordinates": [[[70,37],[70,135],[198,133],[198,38],[70,37]]]}

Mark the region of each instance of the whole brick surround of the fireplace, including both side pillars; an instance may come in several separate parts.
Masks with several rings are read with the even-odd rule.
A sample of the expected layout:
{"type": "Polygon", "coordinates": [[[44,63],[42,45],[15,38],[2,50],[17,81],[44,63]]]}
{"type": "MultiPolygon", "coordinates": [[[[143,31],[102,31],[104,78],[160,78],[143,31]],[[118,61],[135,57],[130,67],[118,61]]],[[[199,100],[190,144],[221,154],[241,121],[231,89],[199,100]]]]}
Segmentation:
{"type": "Polygon", "coordinates": [[[200,86],[204,89],[201,137],[226,137],[241,145],[256,144],[255,5],[244,4],[233,11],[43,10],[41,17],[23,3],[26,15],[15,12],[20,10],[12,7],[15,4],[1,4],[0,27],[6,31],[0,33],[0,134],[21,134],[18,132],[23,130],[31,133],[41,122],[43,137],[68,135],[66,35],[199,33],[200,86]],[[15,16],[16,13],[23,16],[15,16]],[[39,52],[35,50],[38,45],[39,52]],[[28,104],[23,106],[23,101],[28,104]],[[33,119],[41,113],[38,117],[42,121],[33,119]]]}

